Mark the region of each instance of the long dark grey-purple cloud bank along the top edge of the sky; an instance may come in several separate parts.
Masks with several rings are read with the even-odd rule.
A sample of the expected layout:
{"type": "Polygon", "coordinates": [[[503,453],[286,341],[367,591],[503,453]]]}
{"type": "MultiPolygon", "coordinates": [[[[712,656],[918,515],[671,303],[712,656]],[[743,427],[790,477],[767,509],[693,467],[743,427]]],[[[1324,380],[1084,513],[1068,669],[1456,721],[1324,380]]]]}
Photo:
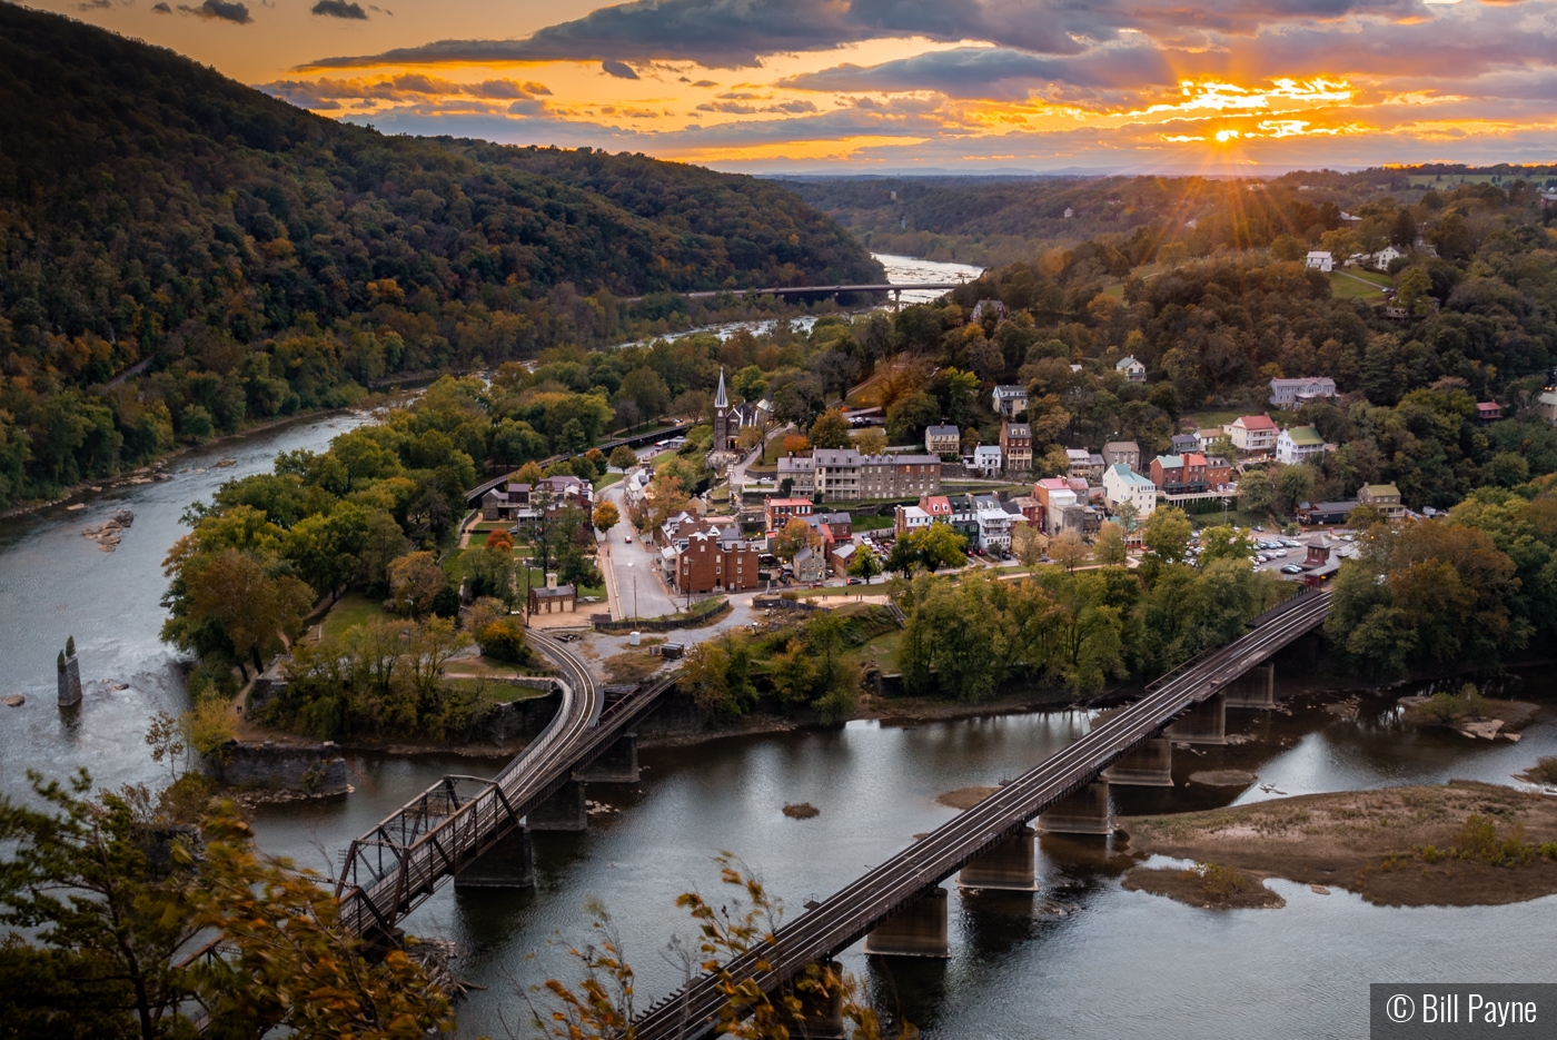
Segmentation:
{"type": "Polygon", "coordinates": [[[1431,17],[1423,0],[635,0],[522,40],[439,40],[383,54],[327,58],[315,69],[416,62],[696,61],[760,65],[766,54],[867,39],[987,40],[1035,54],[1079,54],[1126,30],[1155,37],[1256,33],[1348,16],[1431,17]]]}

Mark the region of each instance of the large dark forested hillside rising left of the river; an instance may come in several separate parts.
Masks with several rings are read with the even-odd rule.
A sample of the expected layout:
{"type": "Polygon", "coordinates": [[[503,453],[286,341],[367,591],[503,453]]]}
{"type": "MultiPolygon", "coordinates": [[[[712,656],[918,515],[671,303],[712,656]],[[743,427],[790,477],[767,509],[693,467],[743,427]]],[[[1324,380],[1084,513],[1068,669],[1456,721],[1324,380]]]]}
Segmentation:
{"type": "Polygon", "coordinates": [[[880,277],[769,182],[385,137],[14,5],[0,265],[0,504],[386,374],[685,316],[623,297],[880,277]]]}

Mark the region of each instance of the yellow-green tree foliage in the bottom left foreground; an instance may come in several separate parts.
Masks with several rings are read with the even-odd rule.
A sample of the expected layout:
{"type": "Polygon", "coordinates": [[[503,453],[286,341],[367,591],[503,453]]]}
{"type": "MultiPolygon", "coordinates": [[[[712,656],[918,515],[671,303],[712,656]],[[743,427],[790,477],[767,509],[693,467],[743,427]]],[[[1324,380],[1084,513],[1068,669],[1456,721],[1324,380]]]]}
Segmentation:
{"type": "Polygon", "coordinates": [[[338,926],[321,878],[260,858],[230,803],[193,817],[146,788],[92,794],[30,774],[0,797],[0,1023],[6,1035],[174,1040],[271,1031],[324,1040],[452,1026],[447,996],[403,951],[374,961],[338,926]],[[190,943],[221,956],[184,964],[190,943]]]}

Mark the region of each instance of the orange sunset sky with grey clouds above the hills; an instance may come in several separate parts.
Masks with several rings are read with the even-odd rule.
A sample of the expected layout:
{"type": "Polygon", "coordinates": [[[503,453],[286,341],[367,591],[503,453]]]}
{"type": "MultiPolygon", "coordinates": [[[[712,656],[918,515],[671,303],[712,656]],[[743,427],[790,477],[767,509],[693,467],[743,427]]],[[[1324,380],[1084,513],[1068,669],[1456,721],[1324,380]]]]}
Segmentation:
{"type": "Polygon", "coordinates": [[[721,170],[1557,160],[1557,0],[33,0],[319,115],[721,170]]]}

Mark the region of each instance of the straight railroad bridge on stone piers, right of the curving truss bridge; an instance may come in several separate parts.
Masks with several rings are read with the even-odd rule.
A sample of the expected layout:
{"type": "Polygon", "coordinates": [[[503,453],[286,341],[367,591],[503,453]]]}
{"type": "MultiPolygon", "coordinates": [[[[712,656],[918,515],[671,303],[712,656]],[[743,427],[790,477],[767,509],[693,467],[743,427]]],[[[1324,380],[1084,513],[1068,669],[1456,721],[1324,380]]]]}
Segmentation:
{"type": "MultiPolygon", "coordinates": [[[[1034,830],[1109,831],[1109,783],[1172,785],[1171,746],[1225,743],[1225,708],[1271,707],[1269,669],[1277,651],[1319,627],[1330,613],[1328,590],[1308,592],[1250,626],[1252,632],[1202,654],[1146,688],[1098,729],[948,820],[864,877],[778,928],[771,945],[732,961],[729,973],[752,978],[764,992],[783,989],[811,964],[825,962],[864,939],[866,953],[950,956],[947,891],[959,873],[970,889],[1032,891],[1034,830]],[[1255,682],[1246,676],[1264,673],[1255,682]],[[758,971],[758,962],[771,965],[758,971]]],[[[635,1023],[638,1040],[696,1040],[718,1029],[726,993],[704,975],[657,1001],[635,1023]]],[[[835,1009],[836,1010],[836,1009],[835,1009]]],[[[827,1035],[822,1009],[814,1035],[827,1035]]],[[[836,1026],[841,1026],[836,1021],[836,1026]]],[[[841,1034],[833,1034],[841,1035],[841,1034]]]]}

